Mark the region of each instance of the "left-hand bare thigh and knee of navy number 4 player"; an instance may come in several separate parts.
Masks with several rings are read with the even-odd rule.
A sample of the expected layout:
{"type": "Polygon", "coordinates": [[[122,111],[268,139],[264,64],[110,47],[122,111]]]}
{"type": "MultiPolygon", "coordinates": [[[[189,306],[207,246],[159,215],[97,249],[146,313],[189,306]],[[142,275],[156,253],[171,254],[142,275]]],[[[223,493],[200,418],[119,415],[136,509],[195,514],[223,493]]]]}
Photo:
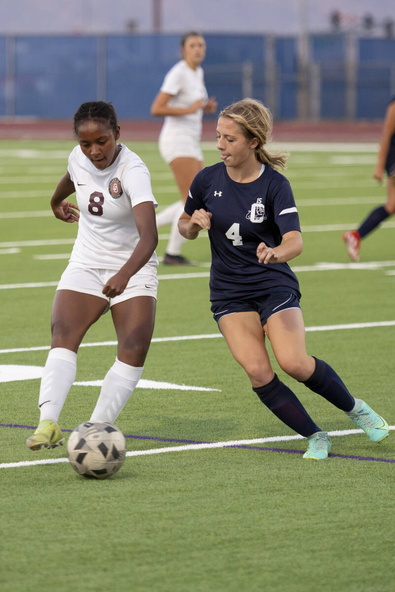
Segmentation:
{"type": "Polygon", "coordinates": [[[227,314],[219,320],[219,329],[252,386],[267,384],[273,378],[273,369],[259,314],[254,311],[227,314]]]}

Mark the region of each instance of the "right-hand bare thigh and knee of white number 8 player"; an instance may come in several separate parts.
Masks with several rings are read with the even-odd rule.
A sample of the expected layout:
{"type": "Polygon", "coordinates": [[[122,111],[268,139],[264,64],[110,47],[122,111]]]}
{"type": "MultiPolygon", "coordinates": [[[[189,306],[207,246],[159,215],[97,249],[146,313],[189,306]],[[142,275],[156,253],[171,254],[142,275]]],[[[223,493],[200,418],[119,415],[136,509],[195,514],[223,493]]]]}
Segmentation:
{"type": "Polygon", "coordinates": [[[155,313],[156,299],[151,296],[136,296],[111,307],[121,362],[143,366],[154,332],[155,313]]]}

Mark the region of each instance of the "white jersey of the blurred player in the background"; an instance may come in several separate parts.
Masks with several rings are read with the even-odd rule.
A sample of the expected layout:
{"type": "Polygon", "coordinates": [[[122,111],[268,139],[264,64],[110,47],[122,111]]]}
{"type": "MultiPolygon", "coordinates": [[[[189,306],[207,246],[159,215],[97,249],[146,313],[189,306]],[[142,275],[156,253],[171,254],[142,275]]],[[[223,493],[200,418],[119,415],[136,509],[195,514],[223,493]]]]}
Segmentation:
{"type": "MultiPolygon", "coordinates": [[[[160,90],[173,95],[169,107],[190,107],[195,101],[207,102],[208,94],[203,78],[203,69],[193,70],[185,60],[177,62],[164,77],[160,90]]],[[[203,109],[187,115],[166,115],[162,134],[192,134],[200,141],[202,135],[203,109]]]]}

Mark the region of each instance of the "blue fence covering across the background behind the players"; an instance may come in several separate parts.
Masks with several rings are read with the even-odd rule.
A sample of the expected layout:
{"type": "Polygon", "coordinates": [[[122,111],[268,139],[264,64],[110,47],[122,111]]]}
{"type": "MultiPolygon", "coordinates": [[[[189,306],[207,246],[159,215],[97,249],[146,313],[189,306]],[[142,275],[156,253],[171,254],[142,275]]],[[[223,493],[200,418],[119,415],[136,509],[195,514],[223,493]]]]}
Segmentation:
{"type": "MultiPolygon", "coordinates": [[[[296,37],[209,34],[206,41],[206,86],[219,108],[248,92],[277,119],[297,118],[301,63],[296,37]]],[[[348,52],[343,35],[309,37],[309,80],[316,82],[313,115],[338,119],[352,111],[355,118],[382,118],[395,94],[395,40],[354,41],[352,95],[348,52]]],[[[178,59],[178,35],[0,37],[0,117],[70,118],[80,103],[103,99],[113,102],[121,118],[148,119],[163,77],[178,59]]]]}

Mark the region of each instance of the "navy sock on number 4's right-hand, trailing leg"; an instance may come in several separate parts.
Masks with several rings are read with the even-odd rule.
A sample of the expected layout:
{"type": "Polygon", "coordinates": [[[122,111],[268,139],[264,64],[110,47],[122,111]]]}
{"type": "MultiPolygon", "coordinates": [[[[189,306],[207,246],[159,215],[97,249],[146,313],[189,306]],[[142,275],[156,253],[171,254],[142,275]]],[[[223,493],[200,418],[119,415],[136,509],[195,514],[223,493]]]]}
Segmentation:
{"type": "Polygon", "coordinates": [[[355,405],[355,399],[349,394],[342,379],[326,362],[318,358],[314,359],[315,370],[310,378],[303,381],[303,384],[342,411],[351,411],[355,405]]]}

